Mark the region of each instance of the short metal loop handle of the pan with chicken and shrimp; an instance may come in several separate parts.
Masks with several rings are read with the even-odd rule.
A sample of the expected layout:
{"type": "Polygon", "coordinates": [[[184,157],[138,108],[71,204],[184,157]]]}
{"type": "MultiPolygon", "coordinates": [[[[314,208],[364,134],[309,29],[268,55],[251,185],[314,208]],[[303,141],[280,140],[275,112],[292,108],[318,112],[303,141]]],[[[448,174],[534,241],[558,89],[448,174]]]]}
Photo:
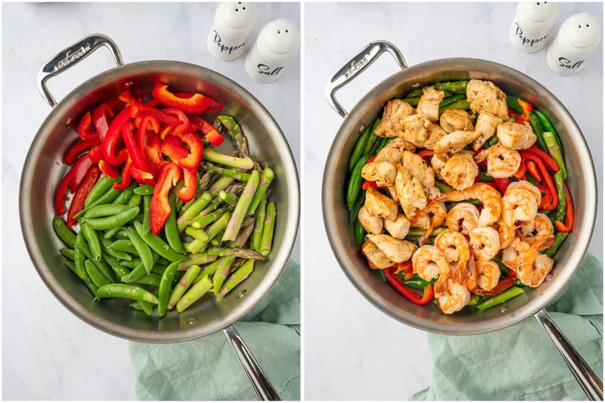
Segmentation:
{"type": "Polygon", "coordinates": [[[343,118],[347,117],[348,112],[336,100],[336,91],[355,79],[384,52],[393,55],[397,64],[399,64],[399,68],[402,70],[407,68],[408,64],[405,62],[404,56],[395,45],[386,40],[374,40],[374,42],[370,42],[370,44],[348,60],[344,66],[338,69],[325,86],[325,95],[328,98],[328,103],[343,118]]]}

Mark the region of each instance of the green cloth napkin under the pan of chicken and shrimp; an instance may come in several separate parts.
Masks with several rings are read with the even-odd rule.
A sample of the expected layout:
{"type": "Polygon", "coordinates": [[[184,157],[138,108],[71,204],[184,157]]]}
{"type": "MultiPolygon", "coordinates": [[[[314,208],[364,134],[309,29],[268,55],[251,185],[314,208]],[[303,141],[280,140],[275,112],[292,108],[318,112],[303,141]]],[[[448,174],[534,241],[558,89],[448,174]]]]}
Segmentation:
{"type": "MultiPolygon", "coordinates": [[[[603,379],[603,266],[587,254],[546,309],[603,379]]],[[[430,387],[411,400],[584,400],[538,321],[474,336],[428,334],[430,387]]]]}

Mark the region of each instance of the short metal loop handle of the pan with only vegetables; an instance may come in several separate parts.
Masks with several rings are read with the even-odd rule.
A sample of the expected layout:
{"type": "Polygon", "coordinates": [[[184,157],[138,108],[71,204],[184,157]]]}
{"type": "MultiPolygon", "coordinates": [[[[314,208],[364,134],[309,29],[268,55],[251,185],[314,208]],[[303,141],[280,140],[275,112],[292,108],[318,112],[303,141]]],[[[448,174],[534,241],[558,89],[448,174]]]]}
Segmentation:
{"type": "Polygon", "coordinates": [[[51,108],[54,108],[54,106],[57,105],[57,102],[54,100],[53,95],[48,91],[46,86],[47,80],[50,79],[50,77],[63,73],[71,66],[76,65],[101,46],[105,46],[110,50],[111,56],[113,56],[116,61],[116,65],[121,66],[124,64],[122,54],[120,54],[116,42],[103,34],[92,34],[83,37],[75,44],[60,51],[48,60],[48,62],[44,63],[44,66],[38,71],[38,91],[40,91],[42,98],[48,102],[51,108]]]}

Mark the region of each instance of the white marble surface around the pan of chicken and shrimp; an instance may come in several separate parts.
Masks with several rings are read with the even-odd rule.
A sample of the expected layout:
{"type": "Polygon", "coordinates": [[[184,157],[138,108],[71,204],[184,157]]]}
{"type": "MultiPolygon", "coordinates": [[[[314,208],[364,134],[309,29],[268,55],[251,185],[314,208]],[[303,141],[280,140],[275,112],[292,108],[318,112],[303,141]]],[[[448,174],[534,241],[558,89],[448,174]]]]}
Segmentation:
{"type": "MultiPolygon", "coordinates": [[[[514,10],[512,3],[305,5],[307,399],[407,399],[427,387],[429,381],[424,332],[382,314],[353,288],[333,257],[321,219],[318,189],[333,135],[342,121],[325,100],[325,83],[368,42],[393,42],[410,65],[444,57],[476,57],[504,63],[534,77],[574,115],[593,152],[601,187],[602,45],[587,60],[583,72],[572,77],[557,76],[546,64],[546,50],[522,54],[510,44],[508,28],[514,10]]],[[[567,16],[580,11],[595,13],[602,19],[601,4],[561,3],[555,30],[567,16]]],[[[350,109],[395,71],[393,59],[385,55],[342,88],[338,99],[350,109]]],[[[590,250],[601,257],[602,221],[600,210],[590,244],[590,250]]]]}

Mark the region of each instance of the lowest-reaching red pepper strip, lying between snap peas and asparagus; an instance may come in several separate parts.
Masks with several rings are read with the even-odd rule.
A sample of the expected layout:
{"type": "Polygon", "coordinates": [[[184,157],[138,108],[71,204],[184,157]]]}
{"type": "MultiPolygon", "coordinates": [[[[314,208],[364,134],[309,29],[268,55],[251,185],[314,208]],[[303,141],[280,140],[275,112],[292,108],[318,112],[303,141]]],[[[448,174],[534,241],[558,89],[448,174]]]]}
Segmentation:
{"type": "Polygon", "coordinates": [[[168,162],[164,164],[160,175],[155,184],[153,195],[151,196],[151,206],[149,208],[149,224],[151,232],[159,234],[168,221],[170,215],[170,204],[168,202],[168,192],[177,184],[181,177],[181,170],[177,164],[168,162]]]}

